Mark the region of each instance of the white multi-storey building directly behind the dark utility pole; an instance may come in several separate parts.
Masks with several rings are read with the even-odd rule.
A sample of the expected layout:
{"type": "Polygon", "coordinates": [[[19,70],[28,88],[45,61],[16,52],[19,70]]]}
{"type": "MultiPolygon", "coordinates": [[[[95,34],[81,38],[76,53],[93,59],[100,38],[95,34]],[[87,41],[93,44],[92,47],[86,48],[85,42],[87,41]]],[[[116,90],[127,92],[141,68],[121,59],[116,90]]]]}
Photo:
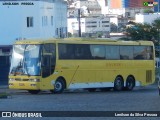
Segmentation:
{"type": "MultiPolygon", "coordinates": [[[[77,18],[68,18],[68,32],[77,34],[79,24],[77,18]]],[[[110,33],[110,18],[109,17],[85,17],[81,18],[81,32],[86,36],[89,34],[102,33],[107,36],[110,33]]]]}

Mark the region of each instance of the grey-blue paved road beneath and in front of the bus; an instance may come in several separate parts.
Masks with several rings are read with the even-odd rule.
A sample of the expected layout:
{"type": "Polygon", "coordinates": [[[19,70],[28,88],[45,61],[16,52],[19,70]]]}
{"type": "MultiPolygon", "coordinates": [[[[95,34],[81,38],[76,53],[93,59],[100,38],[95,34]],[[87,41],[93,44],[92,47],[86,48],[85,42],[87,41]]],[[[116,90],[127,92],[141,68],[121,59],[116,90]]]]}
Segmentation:
{"type": "Polygon", "coordinates": [[[11,93],[12,98],[0,99],[1,111],[160,111],[157,85],[120,92],[111,90],[91,93],[76,90],[51,94],[43,91],[38,95],[32,95],[26,91],[6,91],[11,93]]]}

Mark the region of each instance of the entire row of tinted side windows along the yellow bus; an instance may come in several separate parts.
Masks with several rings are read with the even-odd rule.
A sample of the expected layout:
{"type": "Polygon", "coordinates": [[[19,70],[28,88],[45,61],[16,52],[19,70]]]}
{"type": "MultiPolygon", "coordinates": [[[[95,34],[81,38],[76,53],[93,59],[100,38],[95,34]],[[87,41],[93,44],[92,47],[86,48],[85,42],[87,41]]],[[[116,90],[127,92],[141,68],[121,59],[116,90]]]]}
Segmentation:
{"type": "Polygon", "coordinates": [[[59,59],[153,59],[151,46],[59,44],[58,49],[59,59]]]}

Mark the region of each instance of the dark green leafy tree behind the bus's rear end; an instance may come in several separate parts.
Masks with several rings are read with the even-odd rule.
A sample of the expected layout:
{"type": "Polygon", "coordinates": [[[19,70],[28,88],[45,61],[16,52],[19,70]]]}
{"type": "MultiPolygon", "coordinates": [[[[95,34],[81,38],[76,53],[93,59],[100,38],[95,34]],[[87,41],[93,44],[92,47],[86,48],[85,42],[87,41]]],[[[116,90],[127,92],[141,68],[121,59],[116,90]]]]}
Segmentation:
{"type": "MultiPolygon", "coordinates": [[[[148,40],[153,41],[155,46],[160,45],[160,18],[153,21],[152,24],[134,23],[131,27],[126,28],[126,32],[131,40],[148,40]]],[[[160,49],[156,49],[156,56],[160,56],[160,49]]]]}

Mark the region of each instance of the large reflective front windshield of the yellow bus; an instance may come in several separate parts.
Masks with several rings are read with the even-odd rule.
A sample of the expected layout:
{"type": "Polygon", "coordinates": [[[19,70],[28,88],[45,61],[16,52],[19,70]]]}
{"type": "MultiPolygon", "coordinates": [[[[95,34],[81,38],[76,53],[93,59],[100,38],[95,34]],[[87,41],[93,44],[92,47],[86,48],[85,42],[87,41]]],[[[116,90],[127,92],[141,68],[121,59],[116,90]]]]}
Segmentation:
{"type": "Polygon", "coordinates": [[[14,45],[10,74],[40,75],[40,45],[14,45]]]}

